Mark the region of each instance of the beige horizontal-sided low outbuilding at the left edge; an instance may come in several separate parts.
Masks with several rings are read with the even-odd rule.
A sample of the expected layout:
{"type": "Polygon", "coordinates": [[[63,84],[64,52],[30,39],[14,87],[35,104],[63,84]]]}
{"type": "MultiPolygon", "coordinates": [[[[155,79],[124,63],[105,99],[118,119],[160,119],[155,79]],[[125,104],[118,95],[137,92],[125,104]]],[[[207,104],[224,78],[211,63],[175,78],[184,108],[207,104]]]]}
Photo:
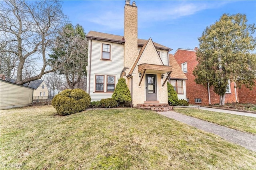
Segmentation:
{"type": "Polygon", "coordinates": [[[24,107],[33,103],[33,89],[0,81],[0,109],[24,107]]]}

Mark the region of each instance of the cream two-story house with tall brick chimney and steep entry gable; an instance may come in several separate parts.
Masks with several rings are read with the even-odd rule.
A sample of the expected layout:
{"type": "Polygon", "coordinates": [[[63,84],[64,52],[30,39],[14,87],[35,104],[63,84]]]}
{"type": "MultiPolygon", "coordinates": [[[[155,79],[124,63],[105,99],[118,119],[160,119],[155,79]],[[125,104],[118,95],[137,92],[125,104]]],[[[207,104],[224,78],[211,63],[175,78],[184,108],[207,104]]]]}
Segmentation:
{"type": "Polygon", "coordinates": [[[167,81],[172,73],[172,49],[138,39],[138,8],[126,0],[124,36],[90,31],[88,39],[87,93],[92,101],[110,98],[120,77],[126,79],[132,105],[163,107],[168,103],[167,81]]]}

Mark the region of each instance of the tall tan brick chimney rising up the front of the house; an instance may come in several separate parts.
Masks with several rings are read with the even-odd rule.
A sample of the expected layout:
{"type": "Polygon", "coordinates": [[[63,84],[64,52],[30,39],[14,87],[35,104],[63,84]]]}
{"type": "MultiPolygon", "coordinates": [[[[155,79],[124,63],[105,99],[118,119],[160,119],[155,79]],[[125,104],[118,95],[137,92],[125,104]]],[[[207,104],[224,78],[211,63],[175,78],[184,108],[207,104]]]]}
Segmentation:
{"type": "Polygon", "coordinates": [[[131,68],[138,56],[138,8],[126,0],[124,6],[124,67],[131,68]]]}

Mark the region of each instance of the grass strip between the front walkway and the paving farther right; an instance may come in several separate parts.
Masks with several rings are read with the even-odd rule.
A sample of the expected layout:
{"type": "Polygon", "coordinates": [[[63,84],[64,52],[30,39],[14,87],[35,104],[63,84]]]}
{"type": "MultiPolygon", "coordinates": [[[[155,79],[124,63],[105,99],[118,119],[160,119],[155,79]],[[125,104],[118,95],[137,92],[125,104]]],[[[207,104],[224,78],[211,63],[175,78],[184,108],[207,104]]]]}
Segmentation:
{"type": "Polygon", "coordinates": [[[254,117],[191,108],[175,108],[174,110],[184,115],[256,135],[256,118],[254,117]]]}

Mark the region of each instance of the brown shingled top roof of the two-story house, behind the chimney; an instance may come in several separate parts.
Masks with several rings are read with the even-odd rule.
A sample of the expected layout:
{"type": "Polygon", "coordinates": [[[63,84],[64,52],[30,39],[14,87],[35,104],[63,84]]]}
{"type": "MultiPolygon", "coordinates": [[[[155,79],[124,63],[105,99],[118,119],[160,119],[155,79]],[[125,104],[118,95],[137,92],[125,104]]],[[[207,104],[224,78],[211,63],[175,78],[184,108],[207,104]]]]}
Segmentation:
{"type": "MultiPolygon", "coordinates": [[[[96,31],[88,32],[86,37],[93,38],[93,39],[99,39],[99,40],[105,40],[105,41],[111,41],[111,42],[119,42],[119,43],[125,42],[124,36],[117,36],[117,35],[113,35],[113,34],[106,34],[106,33],[96,32],[96,31]]],[[[146,42],[147,42],[147,40],[138,39],[138,46],[143,46],[146,42]]],[[[158,49],[164,49],[164,50],[168,50],[168,51],[172,50],[171,48],[161,45],[159,43],[156,43],[156,42],[153,42],[153,43],[154,43],[155,47],[158,49]]]]}

